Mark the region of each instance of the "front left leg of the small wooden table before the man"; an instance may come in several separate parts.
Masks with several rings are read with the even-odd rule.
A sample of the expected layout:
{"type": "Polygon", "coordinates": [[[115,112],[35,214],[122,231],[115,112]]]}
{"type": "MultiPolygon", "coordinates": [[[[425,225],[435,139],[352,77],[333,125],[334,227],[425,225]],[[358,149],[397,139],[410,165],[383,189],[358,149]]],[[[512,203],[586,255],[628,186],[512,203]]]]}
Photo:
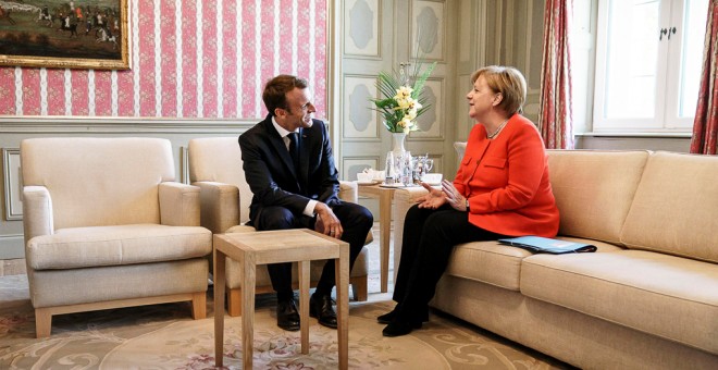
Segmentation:
{"type": "Polygon", "coordinates": [[[251,369],[255,344],[255,282],[257,279],[255,255],[243,252],[242,270],[242,368],[251,369]]]}

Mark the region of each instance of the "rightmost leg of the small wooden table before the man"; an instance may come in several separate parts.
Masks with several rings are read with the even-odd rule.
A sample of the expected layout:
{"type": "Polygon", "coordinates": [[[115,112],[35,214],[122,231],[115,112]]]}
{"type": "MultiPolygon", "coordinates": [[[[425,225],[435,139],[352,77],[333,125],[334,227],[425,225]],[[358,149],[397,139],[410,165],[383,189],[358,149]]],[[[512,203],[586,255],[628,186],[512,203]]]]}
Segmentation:
{"type": "Polygon", "coordinates": [[[349,245],[339,245],[339,258],[334,260],[336,271],[336,306],[339,344],[339,369],[349,368],[349,245]]]}

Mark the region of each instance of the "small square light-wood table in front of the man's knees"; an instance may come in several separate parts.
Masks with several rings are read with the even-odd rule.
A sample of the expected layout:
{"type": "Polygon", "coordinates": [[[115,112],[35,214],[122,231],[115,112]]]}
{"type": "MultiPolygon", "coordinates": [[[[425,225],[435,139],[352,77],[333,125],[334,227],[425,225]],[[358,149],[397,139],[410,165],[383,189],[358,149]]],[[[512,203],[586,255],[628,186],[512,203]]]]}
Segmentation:
{"type": "Polygon", "coordinates": [[[298,262],[301,353],[309,353],[309,263],[334,259],[339,369],[349,366],[349,244],[307,230],[280,230],[214,235],[214,361],[224,361],[225,262],[242,263],[243,369],[251,369],[255,325],[255,279],[257,264],[298,262]]]}

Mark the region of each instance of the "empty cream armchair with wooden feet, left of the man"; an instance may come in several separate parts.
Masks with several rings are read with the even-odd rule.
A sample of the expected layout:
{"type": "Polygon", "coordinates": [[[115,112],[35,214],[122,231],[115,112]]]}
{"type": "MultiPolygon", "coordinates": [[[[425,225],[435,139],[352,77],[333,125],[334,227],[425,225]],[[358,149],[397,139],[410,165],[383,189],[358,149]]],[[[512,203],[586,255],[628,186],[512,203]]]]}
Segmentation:
{"type": "Polygon", "coordinates": [[[61,313],[187,300],[206,317],[212,234],[169,140],[26,139],[21,161],[38,337],[61,313]]]}

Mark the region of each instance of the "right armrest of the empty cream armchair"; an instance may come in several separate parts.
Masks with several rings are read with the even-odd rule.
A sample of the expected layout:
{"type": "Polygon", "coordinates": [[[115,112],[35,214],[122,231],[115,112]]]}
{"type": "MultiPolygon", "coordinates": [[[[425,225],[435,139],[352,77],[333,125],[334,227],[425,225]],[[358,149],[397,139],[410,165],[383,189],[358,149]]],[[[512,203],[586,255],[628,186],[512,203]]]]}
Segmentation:
{"type": "Polygon", "coordinates": [[[199,187],[176,182],[160,183],[160,223],[199,226],[199,187]]]}

